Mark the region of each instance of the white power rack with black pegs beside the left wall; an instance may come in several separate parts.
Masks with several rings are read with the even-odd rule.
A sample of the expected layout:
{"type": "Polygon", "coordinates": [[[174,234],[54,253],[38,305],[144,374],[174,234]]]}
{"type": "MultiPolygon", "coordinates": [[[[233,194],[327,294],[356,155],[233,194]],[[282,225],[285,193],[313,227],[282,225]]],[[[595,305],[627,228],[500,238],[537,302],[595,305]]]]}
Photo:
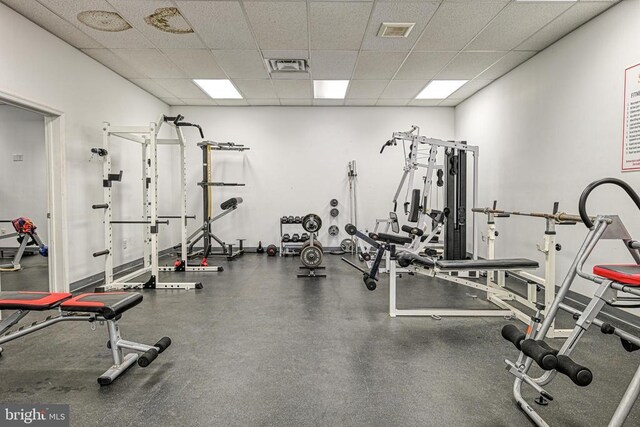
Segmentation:
{"type": "MultiPolygon", "coordinates": [[[[196,282],[160,282],[158,280],[159,248],[158,232],[159,226],[169,224],[169,218],[180,221],[180,237],[182,253],[186,254],[187,248],[187,174],[185,159],[185,138],[182,127],[193,126],[200,129],[200,126],[182,122],[184,117],[167,117],[161,115],[157,122],[151,122],[148,126],[112,126],[110,123],[103,123],[102,136],[103,148],[94,148],[92,152],[104,158],[103,162],[103,198],[102,204],[93,205],[93,209],[104,210],[104,235],[106,248],[93,254],[94,257],[105,257],[105,282],[97,288],[98,292],[108,292],[118,289],[201,289],[202,283],[196,282]],[[158,138],[158,133],[163,124],[167,124],[175,130],[177,138],[158,138]],[[113,198],[112,188],[114,182],[122,180],[122,171],[112,173],[111,167],[111,140],[116,137],[119,140],[126,140],[137,143],[142,151],[142,218],[139,220],[114,220],[113,219],[113,198]],[[158,145],[175,145],[180,151],[180,213],[178,215],[158,215],[158,145]],[[144,255],[142,268],[133,271],[125,276],[114,278],[113,266],[113,226],[114,224],[142,224],[144,225],[144,255]],[[151,277],[146,282],[129,282],[129,280],[140,277],[143,274],[151,273],[151,277]]],[[[200,129],[202,134],[202,130],[200,129]]],[[[185,263],[186,264],[186,263],[185,263]]]]}

